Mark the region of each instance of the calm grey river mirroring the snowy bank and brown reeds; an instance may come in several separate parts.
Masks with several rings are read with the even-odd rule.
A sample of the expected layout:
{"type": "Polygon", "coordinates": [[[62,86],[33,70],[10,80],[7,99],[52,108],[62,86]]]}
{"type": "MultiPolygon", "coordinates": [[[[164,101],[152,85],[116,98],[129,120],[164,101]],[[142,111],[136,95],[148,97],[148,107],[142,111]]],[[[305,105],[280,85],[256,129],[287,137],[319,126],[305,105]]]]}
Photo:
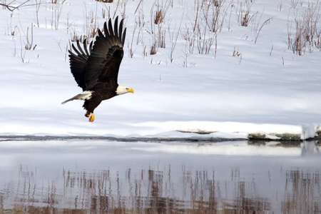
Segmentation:
{"type": "Polygon", "coordinates": [[[320,213],[318,147],[0,138],[0,213],[320,213]]]}

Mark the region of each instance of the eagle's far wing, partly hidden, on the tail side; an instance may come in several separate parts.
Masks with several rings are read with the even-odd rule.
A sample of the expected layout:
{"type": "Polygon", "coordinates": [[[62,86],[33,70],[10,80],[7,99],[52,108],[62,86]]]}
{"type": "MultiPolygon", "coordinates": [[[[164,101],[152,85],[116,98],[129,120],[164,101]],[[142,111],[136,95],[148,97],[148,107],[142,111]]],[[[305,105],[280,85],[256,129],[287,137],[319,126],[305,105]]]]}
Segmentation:
{"type": "Polygon", "coordinates": [[[87,49],[87,41],[83,41],[83,49],[81,49],[81,45],[79,44],[79,41],[77,41],[77,47],[72,44],[73,51],[76,52],[76,54],[73,54],[73,52],[69,52],[69,58],[70,58],[70,68],[71,73],[73,74],[73,78],[75,78],[76,83],[79,87],[83,89],[83,91],[86,90],[86,83],[85,83],[85,73],[86,73],[86,66],[88,57],[91,53],[91,49],[93,49],[93,42],[91,41],[91,44],[89,45],[89,50],[87,49]],[[84,51],[83,51],[84,50],[84,51]]]}

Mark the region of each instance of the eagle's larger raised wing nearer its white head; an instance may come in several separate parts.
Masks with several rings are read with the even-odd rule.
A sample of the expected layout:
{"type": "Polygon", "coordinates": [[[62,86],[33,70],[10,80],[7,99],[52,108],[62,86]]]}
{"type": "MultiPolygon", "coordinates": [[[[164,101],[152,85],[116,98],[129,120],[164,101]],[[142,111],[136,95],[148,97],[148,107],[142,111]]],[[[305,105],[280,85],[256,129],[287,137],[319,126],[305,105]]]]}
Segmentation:
{"type": "Polygon", "coordinates": [[[118,29],[118,17],[116,17],[114,30],[111,19],[109,19],[108,27],[105,22],[103,31],[105,36],[98,29],[98,36],[96,36],[91,54],[87,55],[88,60],[84,76],[86,91],[93,89],[99,82],[117,84],[118,70],[123,58],[123,44],[126,36],[126,29],[123,30],[123,19],[118,29]]]}

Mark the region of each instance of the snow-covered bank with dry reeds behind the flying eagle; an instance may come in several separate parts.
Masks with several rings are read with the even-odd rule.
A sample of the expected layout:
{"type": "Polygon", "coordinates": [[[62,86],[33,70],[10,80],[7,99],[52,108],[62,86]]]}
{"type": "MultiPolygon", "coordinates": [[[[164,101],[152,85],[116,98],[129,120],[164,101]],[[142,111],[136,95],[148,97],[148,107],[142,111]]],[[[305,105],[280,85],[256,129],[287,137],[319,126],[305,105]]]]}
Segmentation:
{"type": "MultiPolygon", "coordinates": [[[[295,19],[303,19],[312,2],[223,1],[217,49],[215,34],[205,29],[205,11],[198,10],[201,1],[24,2],[0,1],[19,6],[0,9],[1,136],[198,136],[185,133],[192,131],[220,138],[285,133],[310,138],[319,129],[321,53],[315,45],[320,38],[315,36],[316,43],[307,44],[302,56],[288,49],[295,19]],[[164,19],[154,24],[160,9],[164,19]],[[241,26],[246,11],[250,20],[241,26]],[[89,123],[83,102],[61,105],[81,92],[67,49],[74,37],[103,26],[114,14],[124,15],[127,27],[118,82],[135,93],[103,101],[89,123]],[[193,33],[196,17],[201,36],[193,33]],[[162,35],[165,48],[151,55],[162,35]],[[188,35],[194,45],[187,44],[188,35]],[[209,53],[198,54],[198,47],[210,41],[209,53]]],[[[320,34],[320,21],[315,26],[320,34]]]]}

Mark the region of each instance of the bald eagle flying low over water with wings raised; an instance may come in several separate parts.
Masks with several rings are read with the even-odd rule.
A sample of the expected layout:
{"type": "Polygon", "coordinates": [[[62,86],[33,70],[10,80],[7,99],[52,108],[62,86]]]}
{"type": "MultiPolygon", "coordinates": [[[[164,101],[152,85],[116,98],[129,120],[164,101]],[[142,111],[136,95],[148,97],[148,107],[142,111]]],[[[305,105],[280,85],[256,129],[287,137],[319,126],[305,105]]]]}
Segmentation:
{"type": "Polygon", "coordinates": [[[119,24],[118,17],[112,26],[111,19],[103,25],[105,36],[98,29],[96,41],[91,41],[87,49],[86,40],[83,41],[83,49],[77,41],[77,47],[72,45],[69,51],[70,68],[73,77],[79,87],[83,89],[82,93],[63,101],[61,104],[73,100],[84,100],[83,108],[86,109],[85,116],[93,122],[95,116],[93,111],[103,100],[113,98],[123,93],[131,92],[132,88],[118,86],[118,70],[123,58],[123,44],[126,36],[126,29],[123,30],[123,19],[119,24]],[[114,29],[113,29],[114,27],[114,29]]]}

